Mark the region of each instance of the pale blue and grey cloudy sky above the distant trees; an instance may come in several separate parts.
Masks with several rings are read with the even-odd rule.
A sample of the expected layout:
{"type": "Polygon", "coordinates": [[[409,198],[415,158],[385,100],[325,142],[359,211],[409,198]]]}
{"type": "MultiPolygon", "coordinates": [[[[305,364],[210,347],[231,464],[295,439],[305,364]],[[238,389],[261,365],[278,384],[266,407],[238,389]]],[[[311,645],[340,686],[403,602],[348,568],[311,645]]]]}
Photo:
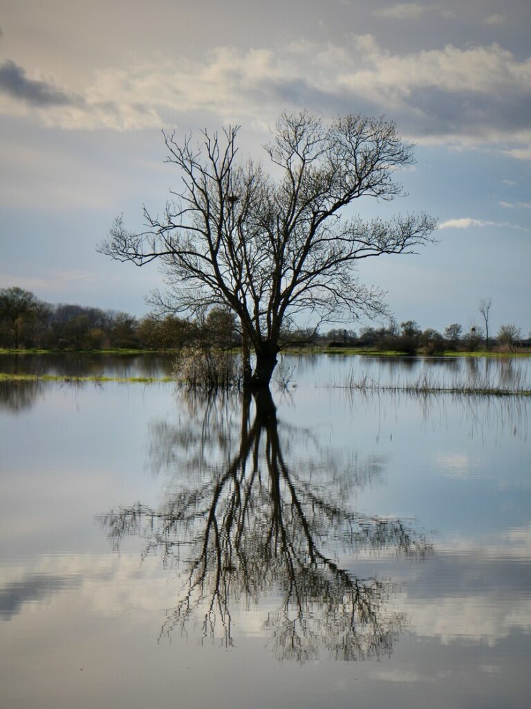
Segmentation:
{"type": "Polygon", "coordinates": [[[407,196],[438,245],[366,262],[399,322],[531,330],[531,4],[0,0],[0,287],[142,315],[161,278],[96,253],[178,187],[161,128],[239,123],[261,155],[282,109],[384,115],[416,147],[407,196]]]}

